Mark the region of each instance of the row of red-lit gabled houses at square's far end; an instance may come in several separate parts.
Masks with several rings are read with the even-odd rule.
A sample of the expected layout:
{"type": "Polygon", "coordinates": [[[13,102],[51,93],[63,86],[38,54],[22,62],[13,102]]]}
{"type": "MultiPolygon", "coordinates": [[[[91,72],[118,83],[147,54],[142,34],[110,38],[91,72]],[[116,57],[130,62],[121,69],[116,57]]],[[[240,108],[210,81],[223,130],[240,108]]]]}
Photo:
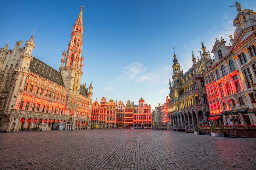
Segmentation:
{"type": "Polygon", "coordinates": [[[92,106],[91,128],[151,128],[151,106],[145,104],[144,99],[140,98],[138,105],[130,100],[126,104],[121,100],[116,103],[112,99],[106,103],[103,97],[98,104],[96,99],[92,106]]]}

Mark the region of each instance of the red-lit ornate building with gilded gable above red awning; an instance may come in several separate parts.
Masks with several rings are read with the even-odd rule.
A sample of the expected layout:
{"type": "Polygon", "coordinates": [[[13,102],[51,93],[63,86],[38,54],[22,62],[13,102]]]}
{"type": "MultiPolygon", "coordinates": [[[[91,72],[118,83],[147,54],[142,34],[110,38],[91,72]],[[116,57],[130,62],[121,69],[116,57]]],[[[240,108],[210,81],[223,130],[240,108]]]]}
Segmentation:
{"type": "Polygon", "coordinates": [[[204,56],[204,79],[210,105],[210,120],[230,125],[230,117],[242,125],[256,124],[256,13],[242,10],[233,21],[234,38],[226,46],[216,38],[213,60],[204,56]]]}

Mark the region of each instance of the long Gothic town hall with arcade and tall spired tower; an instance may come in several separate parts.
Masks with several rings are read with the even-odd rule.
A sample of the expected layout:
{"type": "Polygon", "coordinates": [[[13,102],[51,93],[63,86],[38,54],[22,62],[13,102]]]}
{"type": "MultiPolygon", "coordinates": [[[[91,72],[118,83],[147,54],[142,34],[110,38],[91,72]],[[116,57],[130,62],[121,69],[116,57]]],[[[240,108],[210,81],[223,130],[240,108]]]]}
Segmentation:
{"type": "Polygon", "coordinates": [[[80,85],[83,74],[83,6],[71,40],[62,53],[60,71],[32,56],[30,40],[0,49],[0,130],[74,130],[91,127],[92,84],[80,85]],[[65,63],[65,66],[64,66],[65,63]]]}

